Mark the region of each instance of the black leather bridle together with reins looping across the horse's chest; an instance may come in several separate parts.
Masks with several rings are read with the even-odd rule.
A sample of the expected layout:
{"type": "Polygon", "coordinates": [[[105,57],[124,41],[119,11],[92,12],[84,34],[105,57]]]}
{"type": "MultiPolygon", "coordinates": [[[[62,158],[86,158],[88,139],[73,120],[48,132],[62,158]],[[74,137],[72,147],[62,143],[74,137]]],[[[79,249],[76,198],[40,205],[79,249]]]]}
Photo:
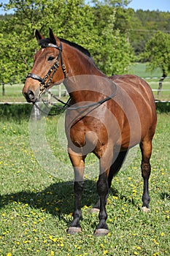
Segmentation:
{"type": "MultiPolygon", "coordinates": [[[[81,109],[81,108],[93,108],[93,107],[98,107],[98,105],[102,105],[104,104],[104,102],[107,102],[109,99],[112,99],[113,97],[116,96],[117,94],[117,85],[115,83],[114,86],[115,86],[115,92],[108,96],[108,97],[105,97],[104,99],[101,99],[99,100],[98,102],[93,102],[93,103],[90,103],[90,104],[87,104],[87,105],[82,105],[82,106],[77,106],[77,107],[72,107],[72,105],[69,105],[69,102],[70,102],[70,98],[68,99],[67,102],[63,102],[61,101],[61,99],[58,99],[57,97],[55,97],[50,91],[47,91],[47,89],[50,87],[50,84],[53,80],[53,76],[55,74],[55,72],[58,70],[58,67],[60,65],[60,60],[61,60],[61,68],[63,70],[63,76],[64,76],[64,79],[66,78],[66,66],[63,64],[63,57],[62,57],[62,44],[60,42],[60,46],[58,47],[57,45],[54,45],[53,43],[50,43],[50,42],[43,42],[41,44],[41,47],[42,48],[47,48],[47,47],[52,47],[52,48],[56,48],[59,50],[59,54],[58,54],[58,57],[55,61],[55,63],[53,64],[53,66],[48,70],[47,72],[47,75],[45,75],[44,78],[41,78],[39,75],[35,75],[34,73],[28,73],[27,77],[26,78],[33,78],[35,80],[38,80],[40,82],[40,89],[39,89],[39,95],[38,97],[41,97],[42,94],[44,94],[45,92],[47,92],[48,94],[51,95],[51,97],[53,97],[54,99],[56,99],[58,102],[62,103],[63,106],[59,106],[59,105],[56,105],[55,103],[50,103],[50,102],[47,102],[45,101],[44,99],[42,99],[42,102],[44,103],[44,105],[49,108],[47,105],[50,103],[50,105],[53,105],[55,106],[55,108],[57,108],[58,110],[66,110],[66,109],[69,109],[69,110],[78,110],[78,109],[81,109]]],[[[41,110],[43,113],[47,114],[44,110],[42,110],[41,108],[39,108],[39,106],[34,103],[34,105],[36,106],[36,108],[38,108],[39,110],[41,110]]],[[[56,114],[50,114],[50,116],[55,116],[57,115],[56,114]]]]}

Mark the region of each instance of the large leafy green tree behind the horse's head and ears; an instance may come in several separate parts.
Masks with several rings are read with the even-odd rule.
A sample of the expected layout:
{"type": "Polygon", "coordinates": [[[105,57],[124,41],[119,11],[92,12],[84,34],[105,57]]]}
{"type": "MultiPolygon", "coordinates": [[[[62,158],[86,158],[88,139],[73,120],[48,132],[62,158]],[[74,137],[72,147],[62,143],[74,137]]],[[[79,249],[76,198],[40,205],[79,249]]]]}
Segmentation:
{"type": "Polygon", "coordinates": [[[91,8],[83,0],[10,0],[4,7],[15,10],[10,18],[0,20],[0,77],[4,83],[26,77],[31,69],[38,48],[35,29],[48,34],[51,26],[58,37],[86,46],[89,42],[95,45],[96,35],[89,33],[93,27],[91,8]]]}

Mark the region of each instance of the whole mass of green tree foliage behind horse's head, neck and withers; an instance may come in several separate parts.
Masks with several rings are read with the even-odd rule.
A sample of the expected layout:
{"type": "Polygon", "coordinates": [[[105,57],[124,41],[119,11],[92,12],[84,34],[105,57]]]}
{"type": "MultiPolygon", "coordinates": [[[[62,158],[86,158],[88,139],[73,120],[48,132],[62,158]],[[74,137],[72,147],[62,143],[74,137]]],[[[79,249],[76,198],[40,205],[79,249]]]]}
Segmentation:
{"type": "Polygon", "coordinates": [[[98,67],[107,75],[123,73],[133,54],[123,25],[128,15],[122,6],[122,1],[91,7],[83,0],[10,0],[4,7],[12,8],[15,13],[0,20],[0,80],[7,83],[26,76],[37,49],[34,31],[41,29],[47,35],[49,26],[58,37],[88,48],[98,67]],[[118,24],[115,26],[116,15],[117,20],[121,17],[120,29],[118,24]]]}

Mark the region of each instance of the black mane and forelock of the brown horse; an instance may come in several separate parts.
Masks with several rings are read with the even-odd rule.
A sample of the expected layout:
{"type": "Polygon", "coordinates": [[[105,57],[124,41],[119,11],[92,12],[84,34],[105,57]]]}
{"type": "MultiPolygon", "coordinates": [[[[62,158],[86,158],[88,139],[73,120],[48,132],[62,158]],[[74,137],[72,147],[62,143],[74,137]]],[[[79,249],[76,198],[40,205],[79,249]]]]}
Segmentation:
{"type": "MultiPolygon", "coordinates": [[[[88,56],[89,58],[91,58],[90,52],[85,49],[84,47],[77,45],[75,42],[70,42],[69,40],[63,39],[58,37],[58,39],[60,39],[61,42],[66,43],[67,45],[72,46],[73,48],[76,48],[77,50],[80,50],[82,53],[84,53],[86,56],[88,56]]],[[[54,43],[52,42],[52,40],[50,38],[43,38],[39,40],[39,45],[42,47],[42,45],[44,43],[54,43]]]]}

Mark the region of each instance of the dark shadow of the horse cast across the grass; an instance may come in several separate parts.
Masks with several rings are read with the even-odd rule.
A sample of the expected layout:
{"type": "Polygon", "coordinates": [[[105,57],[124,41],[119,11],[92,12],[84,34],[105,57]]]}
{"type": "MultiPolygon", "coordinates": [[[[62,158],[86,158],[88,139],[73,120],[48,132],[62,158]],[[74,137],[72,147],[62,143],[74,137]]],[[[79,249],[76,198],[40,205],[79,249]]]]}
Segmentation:
{"type": "MultiPolygon", "coordinates": [[[[110,189],[109,195],[117,195],[115,189],[110,189]]],[[[82,195],[82,207],[94,206],[98,200],[96,182],[86,180],[82,195]]],[[[62,181],[51,184],[40,192],[17,192],[0,196],[0,207],[12,202],[28,204],[31,208],[39,208],[49,212],[53,216],[61,218],[62,214],[70,214],[74,210],[74,189],[72,181],[62,181]]]]}

